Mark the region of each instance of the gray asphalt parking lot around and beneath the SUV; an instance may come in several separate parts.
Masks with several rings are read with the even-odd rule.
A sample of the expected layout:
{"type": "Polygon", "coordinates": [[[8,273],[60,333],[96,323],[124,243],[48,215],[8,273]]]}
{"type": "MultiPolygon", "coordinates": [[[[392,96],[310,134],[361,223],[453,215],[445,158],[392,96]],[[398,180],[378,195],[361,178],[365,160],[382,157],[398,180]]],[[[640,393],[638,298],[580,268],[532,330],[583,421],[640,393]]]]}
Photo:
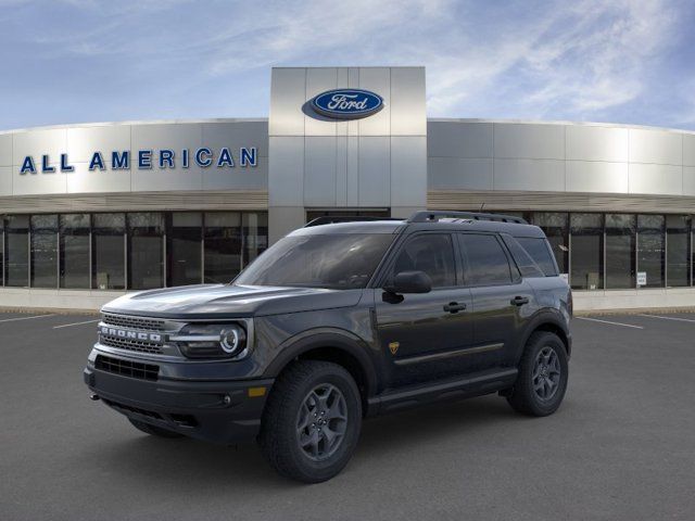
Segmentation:
{"type": "Polygon", "coordinates": [[[96,316],[0,314],[0,519],[691,520],[695,314],[656,315],[576,318],[552,417],[488,396],[372,419],[342,474],[301,485],[254,445],[150,437],[90,402],[96,316]]]}

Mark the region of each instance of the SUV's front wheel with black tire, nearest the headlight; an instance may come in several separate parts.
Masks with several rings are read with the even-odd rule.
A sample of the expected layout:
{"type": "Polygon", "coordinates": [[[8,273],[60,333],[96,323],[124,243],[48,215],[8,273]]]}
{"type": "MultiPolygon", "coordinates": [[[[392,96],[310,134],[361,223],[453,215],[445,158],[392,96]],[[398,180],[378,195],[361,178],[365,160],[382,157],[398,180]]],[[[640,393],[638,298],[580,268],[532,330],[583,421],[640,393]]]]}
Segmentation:
{"type": "Polygon", "coordinates": [[[329,361],[300,360],[276,381],[260,443],[282,475],[318,483],[348,465],[362,429],[362,401],[351,374],[329,361]]]}

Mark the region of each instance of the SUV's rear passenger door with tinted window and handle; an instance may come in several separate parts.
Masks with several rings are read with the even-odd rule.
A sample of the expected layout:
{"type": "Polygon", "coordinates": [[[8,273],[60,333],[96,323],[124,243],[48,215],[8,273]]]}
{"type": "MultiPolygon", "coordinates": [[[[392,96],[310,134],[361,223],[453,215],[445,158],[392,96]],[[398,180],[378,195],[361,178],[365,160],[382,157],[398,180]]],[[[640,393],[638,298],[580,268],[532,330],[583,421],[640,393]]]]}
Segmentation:
{"type": "Polygon", "coordinates": [[[509,366],[517,353],[518,333],[534,305],[534,294],[494,234],[459,233],[464,279],[470,288],[473,343],[479,369],[509,366]]]}

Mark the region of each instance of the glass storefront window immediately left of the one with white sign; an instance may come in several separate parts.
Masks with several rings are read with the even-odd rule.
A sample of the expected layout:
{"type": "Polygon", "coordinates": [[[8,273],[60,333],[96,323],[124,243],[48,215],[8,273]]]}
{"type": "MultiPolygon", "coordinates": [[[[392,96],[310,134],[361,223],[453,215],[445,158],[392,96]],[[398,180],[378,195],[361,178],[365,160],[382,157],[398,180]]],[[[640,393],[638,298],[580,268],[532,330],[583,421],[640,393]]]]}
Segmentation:
{"type": "Polygon", "coordinates": [[[606,289],[635,287],[634,215],[606,214],[606,289]]]}

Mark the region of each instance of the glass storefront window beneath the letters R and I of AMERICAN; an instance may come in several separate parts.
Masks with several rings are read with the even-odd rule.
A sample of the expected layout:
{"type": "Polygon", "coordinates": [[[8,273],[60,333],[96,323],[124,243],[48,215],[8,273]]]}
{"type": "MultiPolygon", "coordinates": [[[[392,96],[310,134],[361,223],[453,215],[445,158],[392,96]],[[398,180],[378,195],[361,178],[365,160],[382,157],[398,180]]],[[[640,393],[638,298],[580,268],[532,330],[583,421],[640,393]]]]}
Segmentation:
{"type": "Polygon", "coordinates": [[[176,212],[170,218],[166,246],[167,285],[200,284],[203,215],[176,212]]]}

